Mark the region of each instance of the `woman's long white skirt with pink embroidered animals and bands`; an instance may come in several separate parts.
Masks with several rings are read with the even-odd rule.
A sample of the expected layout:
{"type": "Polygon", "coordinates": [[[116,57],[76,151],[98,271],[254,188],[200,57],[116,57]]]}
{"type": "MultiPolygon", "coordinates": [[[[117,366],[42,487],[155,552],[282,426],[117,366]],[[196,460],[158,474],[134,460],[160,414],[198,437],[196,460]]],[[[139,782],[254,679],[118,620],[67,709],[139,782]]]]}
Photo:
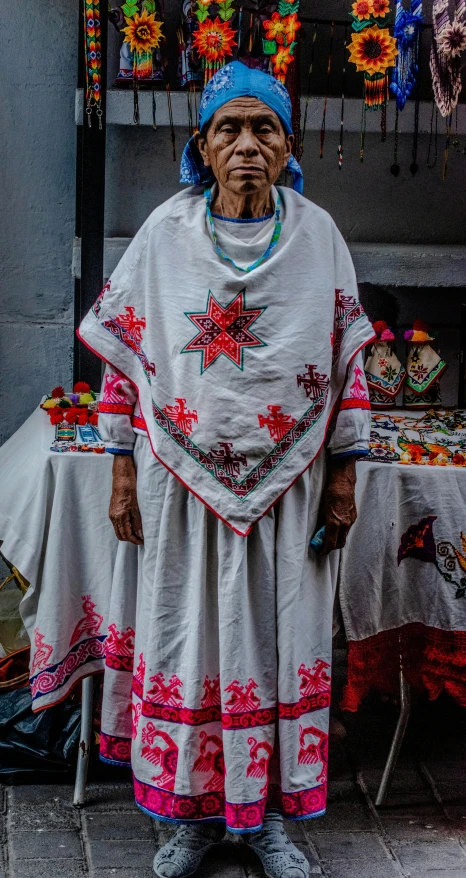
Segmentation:
{"type": "Polygon", "coordinates": [[[309,549],[324,454],[248,537],[171,475],[146,437],[135,464],[144,546],[119,546],[102,758],[131,763],[137,804],[160,820],[251,832],[266,806],[324,813],[338,553],[309,549]]]}

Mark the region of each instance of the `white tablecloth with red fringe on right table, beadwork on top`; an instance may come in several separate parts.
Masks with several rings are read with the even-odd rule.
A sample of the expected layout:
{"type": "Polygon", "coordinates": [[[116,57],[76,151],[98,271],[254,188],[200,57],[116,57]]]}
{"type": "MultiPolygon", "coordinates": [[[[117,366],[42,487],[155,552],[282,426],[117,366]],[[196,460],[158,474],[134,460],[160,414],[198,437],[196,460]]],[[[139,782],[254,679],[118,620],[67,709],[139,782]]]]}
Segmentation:
{"type": "Polygon", "coordinates": [[[466,705],[466,412],[373,413],[358,518],[341,554],[343,705],[396,691],[400,669],[466,705]]]}

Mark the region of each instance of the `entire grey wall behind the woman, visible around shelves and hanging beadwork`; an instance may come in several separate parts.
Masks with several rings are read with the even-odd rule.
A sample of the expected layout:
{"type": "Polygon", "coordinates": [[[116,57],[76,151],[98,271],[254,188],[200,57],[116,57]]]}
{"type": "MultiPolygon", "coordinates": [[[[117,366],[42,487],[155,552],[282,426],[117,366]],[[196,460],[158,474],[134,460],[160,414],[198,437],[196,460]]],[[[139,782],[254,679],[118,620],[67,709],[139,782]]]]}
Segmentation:
{"type": "MultiPolygon", "coordinates": [[[[38,4],[22,0],[11,4],[0,0],[0,184],[4,205],[0,219],[0,441],[18,428],[42,393],[57,382],[69,385],[71,380],[73,105],[79,2],[38,4]]],[[[346,19],[347,0],[327,2],[326,15],[346,19]]],[[[178,0],[167,4],[167,33],[173,49],[179,6],[178,0]]],[[[322,8],[317,0],[302,0],[302,7],[305,16],[322,8]]],[[[117,41],[111,30],[110,79],[117,69],[117,41]]],[[[305,67],[304,52],[303,72],[305,67]]],[[[335,93],[338,84],[336,76],[335,93]]],[[[159,95],[158,100],[164,101],[165,96],[159,95]]],[[[173,162],[168,129],[109,129],[108,236],[134,234],[150,211],[178,190],[178,160],[186,139],[187,130],[177,129],[177,161],[173,162]]],[[[337,134],[327,134],[320,160],[318,134],[310,132],[303,158],[305,194],[329,210],[352,241],[464,244],[466,157],[452,150],[449,175],[442,181],[443,137],[439,138],[439,158],[433,170],[426,166],[427,141],[426,136],[420,139],[420,169],[412,177],[412,138],[400,136],[402,170],[395,179],[389,172],[392,134],[385,144],[377,135],[367,136],[364,164],[359,161],[358,135],[346,135],[340,172],[337,134]]],[[[445,331],[442,347],[447,359],[453,361],[450,375],[455,375],[461,293],[452,291],[442,298],[435,291],[403,290],[396,297],[401,320],[430,316],[445,331]]],[[[454,388],[449,388],[447,401],[454,401],[454,395],[454,388]]]]}

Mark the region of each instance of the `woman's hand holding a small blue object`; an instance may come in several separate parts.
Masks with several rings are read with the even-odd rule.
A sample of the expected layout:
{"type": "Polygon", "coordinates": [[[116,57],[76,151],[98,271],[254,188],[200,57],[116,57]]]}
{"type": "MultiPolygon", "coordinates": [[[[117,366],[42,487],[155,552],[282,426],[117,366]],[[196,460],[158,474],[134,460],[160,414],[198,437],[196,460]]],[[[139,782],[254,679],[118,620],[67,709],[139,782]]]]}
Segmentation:
{"type": "Polygon", "coordinates": [[[357,517],[354,488],[356,461],[353,455],[330,459],[324,494],[325,540],[322,554],[342,549],[357,517]]]}

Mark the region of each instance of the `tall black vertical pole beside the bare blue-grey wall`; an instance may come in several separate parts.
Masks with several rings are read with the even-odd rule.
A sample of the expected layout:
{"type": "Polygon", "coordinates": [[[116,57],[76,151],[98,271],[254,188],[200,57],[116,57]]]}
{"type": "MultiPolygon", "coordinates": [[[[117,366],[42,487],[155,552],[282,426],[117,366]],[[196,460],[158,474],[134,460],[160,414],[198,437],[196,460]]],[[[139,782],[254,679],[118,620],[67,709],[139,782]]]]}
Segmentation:
{"type": "MultiPolygon", "coordinates": [[[[83,44],[83,0],[80,0],[80,41],[83,44]]],[[[105,220],[105,139],[107,91],[107,11],[105,0],[100,7],[102,51],[102,125],[95,111],[88,124],[83,100],[81,128],[81,171],[78,171],[77,232],[81,238],[81,281],[76,284],[75,321],[82,320],[95,302],[104,281],[104,220],[105,220]],[[79,179],[80,177],[80,179],[79,179]]],[[[79,81],[84,85],[84,51],[80,64],[79,81]]],[[[79,155],[78,155],[79,161],[79,155]]],[[[81,342],[75,345],[74,378],[88,381],[93,390],[100,388],[101,362],[81,342]]]]}

